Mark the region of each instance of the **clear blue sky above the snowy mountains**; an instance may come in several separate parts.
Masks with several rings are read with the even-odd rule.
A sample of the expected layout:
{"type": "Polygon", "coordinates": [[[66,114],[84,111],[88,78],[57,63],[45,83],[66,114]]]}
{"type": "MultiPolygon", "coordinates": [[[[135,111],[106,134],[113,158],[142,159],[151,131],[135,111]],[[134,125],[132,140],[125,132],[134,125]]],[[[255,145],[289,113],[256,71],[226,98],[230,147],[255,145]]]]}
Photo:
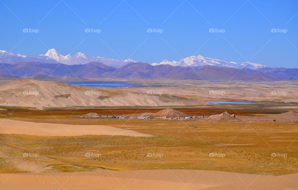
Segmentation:
{"type": "Polygon", "coordinates": [[[39,55],[55,48],[62,55],[84,52],[144,63],[202,55],[292,68],[298,67],[297,12],[296,0],[1,0],[0,49],[39,55]],[[39,31],[23,33],[24,28],[39,31]]]}

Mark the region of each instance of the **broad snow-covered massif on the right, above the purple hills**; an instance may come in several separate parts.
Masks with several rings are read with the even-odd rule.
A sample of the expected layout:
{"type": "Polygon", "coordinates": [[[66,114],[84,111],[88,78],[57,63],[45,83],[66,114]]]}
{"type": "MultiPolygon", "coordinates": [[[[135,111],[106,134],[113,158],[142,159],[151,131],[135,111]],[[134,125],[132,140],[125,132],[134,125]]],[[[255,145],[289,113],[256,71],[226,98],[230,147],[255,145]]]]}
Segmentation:
{"type": "Polygon", "coordinates": [[[187,66],[198,67],[198,66],[210,65],[210,66],[219,66],[219,67],[230,67],[230,68],[235,68],[235,69],[242,69],[244,67],[247,67],[249,69],[258,69],[258,68],[262,68],[262,67],[268,67],[265,65],[260,65],[257,63],[249,63],[249,62],[244,62],[242,64],[238,64],[235,62],[226,62],[226,61],[219,60],[219,59],[205,58],[201,55],[183,58],[183,59],[179,60],[178,62],[164,60],[160,63],[152,63],[153,66],[164,65],[164,64],[169,64],[172,66],[181,66],[181,67],[187,67],[187,66]]]}

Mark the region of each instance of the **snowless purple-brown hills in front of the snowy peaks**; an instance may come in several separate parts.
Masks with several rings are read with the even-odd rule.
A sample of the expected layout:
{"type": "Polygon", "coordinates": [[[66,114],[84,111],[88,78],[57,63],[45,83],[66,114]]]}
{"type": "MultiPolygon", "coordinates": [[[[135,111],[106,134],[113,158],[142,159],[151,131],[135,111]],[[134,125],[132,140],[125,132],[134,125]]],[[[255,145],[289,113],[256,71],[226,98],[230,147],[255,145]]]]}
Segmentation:
{"type": "MultiPolygon", "coordinates": [[[[98,62],[84,65],[66,65],[62,63],[20,62],[0,64],[0,74],[25,76],[30,79],[54,80],[49,77],[65,75],[80,78],[126,78],[126,79],[177,79],[177,80],[216,80],[216,81],[275,81],[278,80],[264,73],[247,73],[239,69],[217,66],[181,67],[169,64],[157,66],[148,63],[128,63],[120,68],[98,62]],[[6,69],[6,68],[7,69],[6,69]]],[[[62,80],[62,79],[61,79],[62,80]]]]}

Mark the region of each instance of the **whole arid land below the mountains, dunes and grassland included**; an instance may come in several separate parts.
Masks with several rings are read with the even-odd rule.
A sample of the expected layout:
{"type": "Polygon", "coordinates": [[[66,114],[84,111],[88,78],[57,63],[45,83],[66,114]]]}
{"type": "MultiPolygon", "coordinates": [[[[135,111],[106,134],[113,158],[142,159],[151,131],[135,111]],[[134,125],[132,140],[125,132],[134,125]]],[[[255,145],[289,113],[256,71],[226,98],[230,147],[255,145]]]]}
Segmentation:
{"type": "Polygon", "coordinates": [[[79,189],[84,180],[90,189],[298,189],[298,82],[0,83],[8,82],[0,86],[2,189],[79,189]],[[24,90],[38,95],[24,96],[24,90]],[[84,101],[86,90],[101,95],[84,101]],[[205,118],[79,117],[169,107],[205,118]],[[207,118],[225,111],[237,119],[207,118]]]}

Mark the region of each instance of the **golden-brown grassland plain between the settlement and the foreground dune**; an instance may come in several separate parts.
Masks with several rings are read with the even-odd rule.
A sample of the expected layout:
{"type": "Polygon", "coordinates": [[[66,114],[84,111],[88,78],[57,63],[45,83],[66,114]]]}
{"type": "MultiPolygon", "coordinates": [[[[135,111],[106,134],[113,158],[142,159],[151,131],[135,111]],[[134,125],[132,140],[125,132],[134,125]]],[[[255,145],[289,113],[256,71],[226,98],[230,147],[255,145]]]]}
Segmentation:
{"type": "MultiPolygon", "coordinates": [[[[20,120],[17,117],[12,118],[20,120]]],[[[297,123],[121,120],[62,116],[21,120],[109,125],[155,137],[40,137],[1,134],[0,173],[33,172],[30,170],[32,167],[39,168],[38,172],[102,169],[203,169],[267,175],[298,172],[297,123]],[[39,156],[23,157],[24,152],[39,156]],[[85,153],[101,156],[86,157],[85,153]],[[148,153],[155,153],[157,157],[148,157],[148,153]],[[210,157],[210,153],[224,156],[210,157]],[[272,153],[287,156],[272,157],[272,153]]]]}

